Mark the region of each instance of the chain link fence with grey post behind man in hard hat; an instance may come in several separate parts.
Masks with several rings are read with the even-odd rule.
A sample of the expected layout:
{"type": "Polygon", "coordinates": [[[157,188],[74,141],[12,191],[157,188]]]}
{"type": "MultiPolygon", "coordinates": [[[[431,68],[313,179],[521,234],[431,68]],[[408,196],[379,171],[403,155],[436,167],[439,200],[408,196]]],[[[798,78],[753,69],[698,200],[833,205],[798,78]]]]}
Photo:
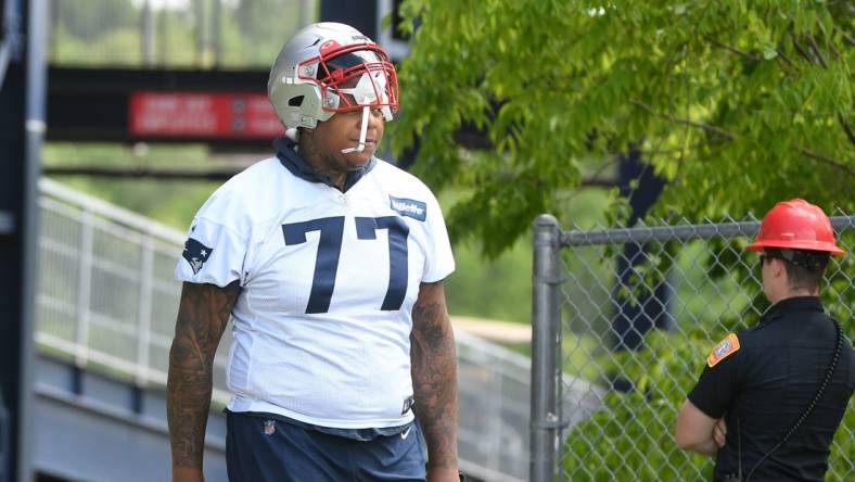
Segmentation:
{"type": "MultiPolygon", "coordinates": [[[[855,334],[855,216],[834,213],[839,244],[827,310],[855,334]]],[[[756,219],[561,231],[535,221],[531,480],[701,481],[713,461],[677,448],[674,423],[710,350],[768,307],[756,219]],[[590,383],[600,408],[567,399],[590,383]]],[[[827,480],[855,479],[853,402],[827,480]]]]}

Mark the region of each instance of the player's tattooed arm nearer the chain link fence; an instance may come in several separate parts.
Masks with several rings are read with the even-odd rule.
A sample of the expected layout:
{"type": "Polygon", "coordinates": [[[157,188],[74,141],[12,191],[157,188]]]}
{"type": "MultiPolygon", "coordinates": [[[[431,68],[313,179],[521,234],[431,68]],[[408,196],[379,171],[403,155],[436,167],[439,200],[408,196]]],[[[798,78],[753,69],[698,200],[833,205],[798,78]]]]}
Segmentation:
{"type": "Polygon", "coordinates": [[[410,344],[414,410],[427,443],[427,480],[457,481],[457,354],[442,281],[419,288],[410,344]]]}

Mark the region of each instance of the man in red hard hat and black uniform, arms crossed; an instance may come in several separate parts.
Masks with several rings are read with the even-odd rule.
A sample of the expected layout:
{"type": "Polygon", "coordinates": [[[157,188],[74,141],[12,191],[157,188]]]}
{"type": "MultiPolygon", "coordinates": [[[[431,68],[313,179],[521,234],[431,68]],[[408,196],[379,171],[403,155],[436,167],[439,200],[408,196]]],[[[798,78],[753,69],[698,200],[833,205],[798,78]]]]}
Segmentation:
{"type": "Polygon", "coordinates": [[[713,348],[677,415],[677,445],[715,457],[715,481],[822,481],[855,389],[855,351],[819,301],[830,256],[845,252],[801,199],[776,204],[748,249],[771,307],[713,348]]]}

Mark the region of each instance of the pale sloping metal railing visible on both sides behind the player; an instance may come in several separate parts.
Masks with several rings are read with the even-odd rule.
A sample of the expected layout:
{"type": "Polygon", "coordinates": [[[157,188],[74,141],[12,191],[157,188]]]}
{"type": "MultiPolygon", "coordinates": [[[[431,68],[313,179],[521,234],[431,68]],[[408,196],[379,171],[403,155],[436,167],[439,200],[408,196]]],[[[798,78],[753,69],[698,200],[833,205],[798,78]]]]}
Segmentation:
{"type": "MultiPolygon", "coordinates": [[[[139,386],[165,386],[184,234],[49,179],[39,189],[39,351],[139,386]]],[[[230,344],[227,329],[215,358],[220,405],[229,398],[230,344]]],[[[457,350],[461,468],[485,481],[525,480],[529,360],[461,332],[457,350]]]]}

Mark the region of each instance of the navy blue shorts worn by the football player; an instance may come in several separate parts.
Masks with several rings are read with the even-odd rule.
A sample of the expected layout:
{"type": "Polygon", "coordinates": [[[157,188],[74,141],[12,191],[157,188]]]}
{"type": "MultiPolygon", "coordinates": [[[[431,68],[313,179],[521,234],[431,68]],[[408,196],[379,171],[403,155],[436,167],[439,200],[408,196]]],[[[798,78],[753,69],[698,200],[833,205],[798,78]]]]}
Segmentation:
{"type": "Polygon", "coordinates": [[[227,413],[230,482],[425,480],[418,423],[358,441],[255,414],[227,413]]]}

